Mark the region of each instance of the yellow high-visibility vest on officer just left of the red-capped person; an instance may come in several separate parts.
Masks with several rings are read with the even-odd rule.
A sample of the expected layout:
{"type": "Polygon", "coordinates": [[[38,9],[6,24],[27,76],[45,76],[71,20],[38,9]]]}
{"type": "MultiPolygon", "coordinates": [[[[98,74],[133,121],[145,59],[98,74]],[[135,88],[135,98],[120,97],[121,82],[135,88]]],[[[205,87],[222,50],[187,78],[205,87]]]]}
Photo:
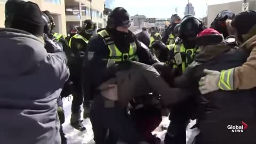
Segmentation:
{"type": "Polygon", "coordinates": [[[174,46],[174,65],[173,68],[181,68],[182,73],[186,70],[188,65],[193,62],[196,48],[186,49],[184,44],[177,44],[174,46]],[[190,54],[189,54],[190,52],[190,54]],[[181,61],[178,59],[181,56],[181,61]]]}

